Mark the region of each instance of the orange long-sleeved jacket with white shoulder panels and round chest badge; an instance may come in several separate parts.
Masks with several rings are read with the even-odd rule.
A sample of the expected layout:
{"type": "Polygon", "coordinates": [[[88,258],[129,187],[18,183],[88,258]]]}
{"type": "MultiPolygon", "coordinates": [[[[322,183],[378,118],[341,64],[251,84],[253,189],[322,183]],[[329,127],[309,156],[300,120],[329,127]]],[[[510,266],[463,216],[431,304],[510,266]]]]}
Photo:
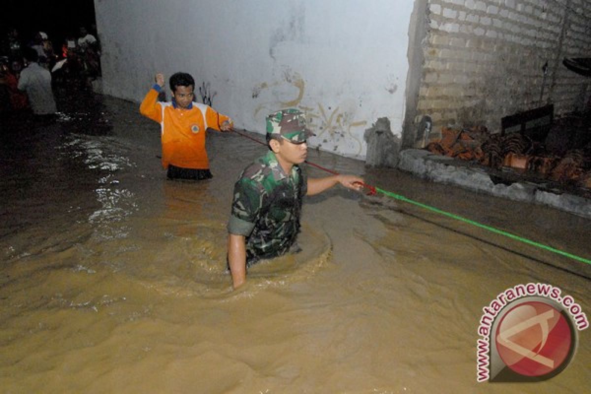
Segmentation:
{"type": "Polygon", "coordinates": [[[204,170],[209,168],[205,151],[207,128],[219,130],[223,122],[232,123],[210,106],[191,103],[189,109],[175,108],[173,103],[158,102],[158,92],[150,89],[139,106],[139,112],[160,123],[162,166],[204,170]]]}

